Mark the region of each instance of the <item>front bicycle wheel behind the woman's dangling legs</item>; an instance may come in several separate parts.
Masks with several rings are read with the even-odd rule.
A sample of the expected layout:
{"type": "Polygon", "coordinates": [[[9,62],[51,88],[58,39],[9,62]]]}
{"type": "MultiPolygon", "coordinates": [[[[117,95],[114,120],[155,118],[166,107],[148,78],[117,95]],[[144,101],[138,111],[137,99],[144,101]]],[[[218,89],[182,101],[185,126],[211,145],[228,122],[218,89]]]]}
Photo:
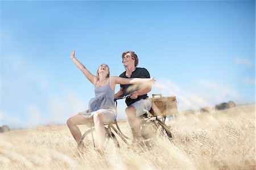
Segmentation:
{"type": "MultiPolygon", "coordinates": [[[[119,147],[119,142],[117,140],[117,137],[113,134],[113,132],[109,131],[108,128],[105,127],[105,146],[108,145],[110,142],[113,142],[115,146],[119,147]]],[[[77,145],[77,148],[82,147],[96,147],[96,132],[95,128],[92,127],[89,130],[87,130],[82,136],[79,141],[79,144],[77,145]]]]}

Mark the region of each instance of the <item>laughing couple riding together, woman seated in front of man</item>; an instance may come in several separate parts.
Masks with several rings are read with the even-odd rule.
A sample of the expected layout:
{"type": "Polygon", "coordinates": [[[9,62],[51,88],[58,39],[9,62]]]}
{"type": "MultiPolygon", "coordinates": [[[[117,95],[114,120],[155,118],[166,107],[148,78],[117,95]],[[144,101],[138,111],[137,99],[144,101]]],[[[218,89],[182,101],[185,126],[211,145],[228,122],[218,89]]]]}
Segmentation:
{"type": "Polygon", "coordinates": [[[79,143],[81,131],[77,125],[90,125],[94,123],[97,149],[102,150],[105,143],[104,123],[113,122],[117,118],[117,111],[114,105],[114,98],[126,98],[126,114],[131,127],[134,140],[141,140],[141,123],[139,116],[145,113],[144,110],[151,109],[151,102],[147,100],[147,93],[151,90],[151,84],[155,82],[154,77],[145,68],[137,68],[138,57],[133,51],[125,51],[122,54],[122,63],[126,71],[119,77],[109,76],[109,67],[101,64],[98,67],[97,74],[94,76],[85,68],[83,64],[75,57],[75,51],[71,53],[71,60],[84,73],[85,77],[92,82],[94,86],[95,97],[90,99],[89,108],[84,112],[71,117],[67,125],[71,134],[79,143]],[[114,94],[115,84],[120,84],[120,90],[114,94]]]}

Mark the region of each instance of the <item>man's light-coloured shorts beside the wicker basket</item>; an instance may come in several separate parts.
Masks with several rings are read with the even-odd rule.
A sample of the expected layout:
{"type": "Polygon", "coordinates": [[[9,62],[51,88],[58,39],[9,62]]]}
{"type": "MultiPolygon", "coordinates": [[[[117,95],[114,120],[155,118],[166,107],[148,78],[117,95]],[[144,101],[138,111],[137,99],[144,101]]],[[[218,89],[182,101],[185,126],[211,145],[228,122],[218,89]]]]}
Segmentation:
{"type": "Polygon", "coordinates": [[[132,103],[130,106],[135,107],[136,115],[139,117],[146,113],[144,110],[150,111],[151,105],[152,104],[148,99],[140,99],[139,101],[132,103]]]}

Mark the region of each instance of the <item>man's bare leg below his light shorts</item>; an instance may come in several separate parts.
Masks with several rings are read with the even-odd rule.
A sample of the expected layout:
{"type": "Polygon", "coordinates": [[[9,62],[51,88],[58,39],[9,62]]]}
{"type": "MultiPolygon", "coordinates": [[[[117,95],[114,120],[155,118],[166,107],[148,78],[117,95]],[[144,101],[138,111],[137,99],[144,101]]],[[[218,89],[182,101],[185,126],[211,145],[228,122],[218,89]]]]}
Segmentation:
{"type": "Polygon", "coordinates": [[[131,127],[131,131],[133,133],[133,138],[134,139],[142,138],[142,136],[141,136],[141,121],[136,115],[135,107],[128,106],[125,109],[125,112],[126,112],[126,115],[127,115],[130,127],[131,127]]]}

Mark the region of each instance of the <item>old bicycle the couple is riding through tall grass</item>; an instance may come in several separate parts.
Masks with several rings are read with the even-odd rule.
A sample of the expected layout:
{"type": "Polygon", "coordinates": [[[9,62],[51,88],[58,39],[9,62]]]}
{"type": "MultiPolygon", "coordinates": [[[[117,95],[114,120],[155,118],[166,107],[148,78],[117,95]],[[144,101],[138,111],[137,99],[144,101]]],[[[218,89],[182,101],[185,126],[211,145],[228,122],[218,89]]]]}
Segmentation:
{"type": "MultiPolygon", "coordinates": [[[[124,99],[127,97],[130,97],[130,94],[128,94],[127,96],[115,98],[115,107],[117,108],[118,99],[124,99]]],[[[166,115],[154,116],[150,113],[150,111],[146,111],[146,114],[142,115],[140,118],[141,118],[141,127],[142,127],[141,129],[142,137],[144,140],[151,140],[153,138],[156,138],[157,135],[161,135],[161,136],[167,137],[168,140],[172,142],[172,139],[174,139],[174,136],[171,133],[170,126],[167,126],[165,123],[166,115]]],[[[123,134],[120,127],[118,126],[116,119],[114,122],[104,123],[104,126],[106,131],[105,143],[108,143],[110,140],[112,140],[115,146],[120,147],[121,145],[117,139],[118,137],[124,143],[126,143],[127,146],[130,145],[128,140],[133,140],[133,139],[123,134]]],[[[89,130],[85,131],[85,133],[81,136],[81,139],[79,141],[77,148],[80,148],[83,143],[86,145],[92,144],[93,147],[96,147],[94,136],[95,136],[95,128],[92,123],[89,130]]]]}

